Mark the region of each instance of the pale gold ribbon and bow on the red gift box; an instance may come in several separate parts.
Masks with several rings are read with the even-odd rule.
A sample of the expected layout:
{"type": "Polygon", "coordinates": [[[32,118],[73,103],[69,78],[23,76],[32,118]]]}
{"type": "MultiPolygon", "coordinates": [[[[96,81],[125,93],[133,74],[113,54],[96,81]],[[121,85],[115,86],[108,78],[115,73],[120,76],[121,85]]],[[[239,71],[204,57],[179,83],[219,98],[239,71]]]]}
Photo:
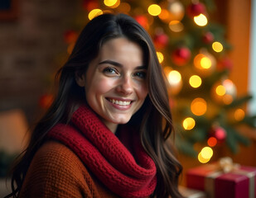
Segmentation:
{"type": "Polygon", "coordinates": [[[215,164],[216,171],[211,172],[205,177],[205,191],[209,194],[210,198],[215,197],[215,178],[220,177],[223,173],[232,172],[234,174],[244,175],[249,178],[249,198],[254,198],[254,172],[240,170],[240,165],[233,163],[231,158],[220,158],[219,163],[215,164]]]}

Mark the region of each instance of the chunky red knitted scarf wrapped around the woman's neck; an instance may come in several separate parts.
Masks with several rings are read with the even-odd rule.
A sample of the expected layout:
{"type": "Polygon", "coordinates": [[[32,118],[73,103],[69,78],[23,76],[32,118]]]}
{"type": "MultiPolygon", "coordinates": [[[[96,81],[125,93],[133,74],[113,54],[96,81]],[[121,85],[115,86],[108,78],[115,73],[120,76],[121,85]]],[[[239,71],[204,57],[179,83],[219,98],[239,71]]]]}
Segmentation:
{"type": "MultiPolygon", "coordinates": [[[[133,134],[132,131],[127,133],[133,134]]],[[[86,167],[118,196],[147,197],[155,190],[156,166],[137,136],[133,135],[132,145],[138,157],[135,160],[128,148],[87,106],[80,106],[75,111],[70,125],[56,125],[48,137],[73,150],[86,167]]]]}

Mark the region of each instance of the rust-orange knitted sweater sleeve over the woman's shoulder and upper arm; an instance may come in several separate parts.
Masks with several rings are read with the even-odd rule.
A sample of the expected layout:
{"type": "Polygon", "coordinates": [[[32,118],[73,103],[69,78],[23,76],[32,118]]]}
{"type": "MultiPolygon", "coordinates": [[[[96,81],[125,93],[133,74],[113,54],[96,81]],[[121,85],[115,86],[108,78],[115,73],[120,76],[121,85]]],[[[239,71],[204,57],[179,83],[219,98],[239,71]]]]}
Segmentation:
{"type": "Polygon", "coordinates": [[[49,142],[36,152],[19,197],[99,197],[80,159],[65,145],[49,142]]]}

